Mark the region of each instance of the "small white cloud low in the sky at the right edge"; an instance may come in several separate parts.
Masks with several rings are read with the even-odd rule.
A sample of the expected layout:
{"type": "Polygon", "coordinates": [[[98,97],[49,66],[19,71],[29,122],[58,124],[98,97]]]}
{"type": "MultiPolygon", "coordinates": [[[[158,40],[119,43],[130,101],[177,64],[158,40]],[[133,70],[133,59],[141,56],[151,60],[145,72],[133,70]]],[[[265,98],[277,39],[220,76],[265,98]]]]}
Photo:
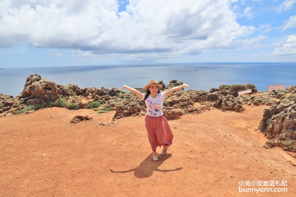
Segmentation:
{"type": "Polygon", "coordinates": [[[290,35],[286,43],[276,48],[273,52],[275,56],[291,57],[296,56],[296,35],[290,35]]]}

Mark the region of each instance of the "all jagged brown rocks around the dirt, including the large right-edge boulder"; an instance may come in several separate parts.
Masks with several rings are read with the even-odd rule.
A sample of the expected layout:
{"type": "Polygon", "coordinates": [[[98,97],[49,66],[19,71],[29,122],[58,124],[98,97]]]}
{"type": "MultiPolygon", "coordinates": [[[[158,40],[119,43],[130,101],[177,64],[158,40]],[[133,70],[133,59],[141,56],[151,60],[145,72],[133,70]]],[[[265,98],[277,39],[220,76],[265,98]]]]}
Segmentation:
{"type": "MultiPolygon", "coordinates": [[[[166,91],[183,84],[170,80],[160,91],[166,91]]],[[[145,92],[141,89],[140,92],[145,92]]],[[[266,148],[279,146],[295,152],[296,140],[296,87],[287,91],[258,92],[256,87],[246,85],[221,85],[209,92],[203,90],[180,89],[173,92],[163,103],[163,113],[167,120],[176,120],[186,114],[200,114],[206,110],[220,109],[222,112],[234,111],[242,113],[248,106],[267,105],[258,130],[269,139],[266,148]],[[251,95],[238,95],[237,92],[251,89],[251,95]]],[[[116,120],[128,116],[143,116],[146,105],[143,100],[131,92],[120,91],[118,88],[79,88],[75,84],[63,86],[50,79],[41,78],[38,74],[29,75],[23,91],[17,97],[0,94],[0,117],[32,113],[36,110],[50,107],[65,107],[67,109],[93,109],[97,113],[115,111],[112,120],[102,123],[105,126],[116,124],[116,120]]],[[[83,116],[77,119],[80,121],[83,116]]],[[[75,118],[74,118],[75,119],[75,118]]],[[[86,117],[87,119],[87,117],[86,117]]],[[[75,122],[75,120],[73,120],[75,122]]]]}

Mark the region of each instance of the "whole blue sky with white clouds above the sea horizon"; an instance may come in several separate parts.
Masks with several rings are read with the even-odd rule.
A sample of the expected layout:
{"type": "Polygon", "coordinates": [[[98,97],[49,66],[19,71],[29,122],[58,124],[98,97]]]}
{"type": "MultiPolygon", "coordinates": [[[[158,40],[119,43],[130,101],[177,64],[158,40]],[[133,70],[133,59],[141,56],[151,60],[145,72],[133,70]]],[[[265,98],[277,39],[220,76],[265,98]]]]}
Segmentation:
{"type": "Polygon", "coordinates": [[[296,61],[296,0],[3,0],[0,68],[296,61]]]}

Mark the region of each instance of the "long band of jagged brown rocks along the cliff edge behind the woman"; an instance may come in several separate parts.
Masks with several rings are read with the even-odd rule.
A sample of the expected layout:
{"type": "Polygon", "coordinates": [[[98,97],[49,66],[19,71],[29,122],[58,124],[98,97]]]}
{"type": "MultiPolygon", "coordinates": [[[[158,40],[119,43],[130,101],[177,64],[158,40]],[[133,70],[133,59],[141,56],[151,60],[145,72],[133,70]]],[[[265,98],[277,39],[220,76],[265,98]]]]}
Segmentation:
{"type": "MultiPolygon", "coordinates": [[[[173,87],[183,84],[178,80],[170,80],[165,85],[162,80],[157,81],[163,86],[160,91],[167,91],[173,87]]],[[[290,92],[296,88],[288,88],[290,92]]],[[[140,92],[145,93],[145,89],[140,92]]],[[[253,84],[247,85],[221,85],[212,88],[210,92],[203,90],[180,89],[173,92],[163,103],[163,113],[168,120],[178,119],[184,114],[199,114],[212,108],[221,108],[222,111],[243,112],[243,105],[274,105],[281,100],[296,100],[296,94],[285,97],[285,92],[273,91],[256,95],[257,89],[253,84]],[[252,89],[253,95],[237,96],[237,91],[252,89]],[[278,101],[276,101],[278,99],[278,101]]],[[[120,91],[118,88],[112,89],[100,87],[79,88],[75,84],[63,86],[56,84],[49,79],[41,79],[38,74],[27,77],[25,87],[16,98],[1,95],[0,113],[12,114],[27,113],[27,111],[38,110],[45,107],[66,107],[68,109],[93,108],[99,113],[116,110],[113,122],[118,118],[126,116],[142,116],[146,114],[146,105],[143,100],[130,92],[120,91]],[[89,102],[82,102],[87,99],[89,102]],[[10,111],[9,111],[10,110],[10,111]]]]}

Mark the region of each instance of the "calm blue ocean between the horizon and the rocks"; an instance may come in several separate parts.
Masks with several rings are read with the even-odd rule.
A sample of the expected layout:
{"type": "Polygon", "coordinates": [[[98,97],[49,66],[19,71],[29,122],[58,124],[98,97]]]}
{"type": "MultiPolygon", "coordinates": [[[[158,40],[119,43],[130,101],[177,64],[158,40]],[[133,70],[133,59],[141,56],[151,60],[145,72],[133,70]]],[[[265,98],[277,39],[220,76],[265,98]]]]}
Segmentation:
{"type": "MultiPolygon", "coordinates": [[[[209,91],[221,84],[247,84],[266,91],[268,85],[296,84],[296,62],[275,63],[179,63],[149,65],[98,65],[0,69],[0,93],[17,96],[26,77],[39,74],[57,84],[74,83],[80,88],[121,88],[123,84],[140,88],[151,79],[171,79],[189,84],[190,89],[209,91]]],[[[188,89],[188,88],[185,88],[188,89]]]]}

